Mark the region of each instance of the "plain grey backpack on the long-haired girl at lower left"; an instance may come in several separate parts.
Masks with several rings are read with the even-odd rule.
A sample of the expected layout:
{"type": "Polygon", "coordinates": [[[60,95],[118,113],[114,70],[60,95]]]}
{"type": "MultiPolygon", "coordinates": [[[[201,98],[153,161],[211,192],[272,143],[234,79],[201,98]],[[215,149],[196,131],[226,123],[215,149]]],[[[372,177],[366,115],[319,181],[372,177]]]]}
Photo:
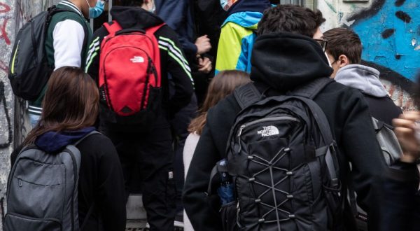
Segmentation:
{"type": "MultiPolygon", "coordinates": [[[[35,145],[20,151],[8,176],[6,231],[79,230],[76,146],[92,134],[99,132],[90,132],[59,153],[45,153],[35,145]]],[[[85,221],[92,210],[93,204],[85,221]]]]}

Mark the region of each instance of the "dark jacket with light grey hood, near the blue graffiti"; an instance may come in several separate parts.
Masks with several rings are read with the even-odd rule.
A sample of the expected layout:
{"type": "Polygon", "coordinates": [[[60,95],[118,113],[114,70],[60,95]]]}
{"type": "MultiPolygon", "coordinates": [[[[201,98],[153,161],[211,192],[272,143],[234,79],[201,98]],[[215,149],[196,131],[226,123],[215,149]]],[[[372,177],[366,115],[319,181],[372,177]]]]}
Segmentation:
{"type": "Polygon", "coordinates": [[[402,113],[388,97],[377,69],[358,64],[346,65],[337,71],[335,81],[360,90],[369,105],[370,114],[377,120],[392,125],[393,118],[398,118],[402,113]]]}

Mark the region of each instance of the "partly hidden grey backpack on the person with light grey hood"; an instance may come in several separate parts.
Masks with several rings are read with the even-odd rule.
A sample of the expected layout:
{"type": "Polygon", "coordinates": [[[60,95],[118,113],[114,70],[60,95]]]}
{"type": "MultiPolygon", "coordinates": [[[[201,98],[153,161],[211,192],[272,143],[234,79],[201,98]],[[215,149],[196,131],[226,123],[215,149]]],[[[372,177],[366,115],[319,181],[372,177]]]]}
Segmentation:
{"type": "MultiPolygon", "coordinates": [[[[400,143],[398,142],[393,127],[384,123],[381,120],[377,120],[372,117],[372,125],[376,133],[377,141],[381,146],[382,154],[386,165],[391,166],[396,160],[400,158],[402,153],[400,143]]],[[[351,181],[350,181],[351,182],[351,181]]],[[[358,230],[367,231],[367,213],[361,209],[356,203],[356,193],[354,192],[353,186],[349,184],[349,201],[353,215],[356,217],[358,230]]]]}

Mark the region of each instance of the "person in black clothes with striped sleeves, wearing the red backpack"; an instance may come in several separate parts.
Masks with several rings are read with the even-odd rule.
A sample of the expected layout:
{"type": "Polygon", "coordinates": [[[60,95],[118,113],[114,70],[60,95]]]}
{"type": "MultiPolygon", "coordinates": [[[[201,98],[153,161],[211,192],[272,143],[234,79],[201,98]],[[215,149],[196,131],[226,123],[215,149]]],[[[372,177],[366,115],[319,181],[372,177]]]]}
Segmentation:
{"type": "MultiPolygon", "coordinates": [[[[153,13],[154,10],[153,1],[134,0],[130,1],[129,6],[114,6],[111,9],[111,15],[122,29],[147,30],[164,23],[153,13]]],[[[94,31],[91,44],[92,52],[89,53],[86,61],[87,73],[97,81],[101,77],[99,75],[99,60],[104,53],[104,50],[101,50],[101,45],[104,37],[108,35],[109,32],[105,27],[94,31]]],[[[176,33],[167,25],[163,25],[155,31],[154,36],[158,42],[156,45],[159,47],[160,54],[162,99],[161,102],[150,102],[151,104],[159,104],[151,131],[143,134],[141,132],[144,130],[128,131],[118,124],[114,126],[105,120],[100,120],[99,130],[104,132],[117,148],[123,165],[127,197],[130,193],[132,179],[137,179],[134,174],[140,174],[139,181],[141,181],[143,204],[151,230],[174,230],[176,188],[173,170],[173,139],[169,120],[190,102],[193,94],[193,80],[176,33]],[[175,91],[172,97],[169,97],[168,74],[172,76],[174,82],[175,91]],[[135,169],[137,165],[138,169],[135,169]],[[137,172],[134,172],[134,170],[137,172]]],[[[134,60],[132,62],[130,61],[132,58],[118,57],[118,60],[125,62],[121,65],[133,65],[134,63],[140,65],[144,63],[141,61],[146,60],[139,57],[139,61],[134,60]]],[[[154,61],[157,62],[158,60],[154,61]]],[[[120,68],[124,69],[127,66],[121,66],[120,68]]],[[[116,71],[118,70],[117,68],[116,71]]],[[[131,70],[133,71],[133,69],[131,70]]],[[[121,86],[125,86],[125,84],[121,86]]],[[[132,96],[131,92],[125,93],[125,96],[132,96]]],[[[121,97],[123,96],[120,95],[120,99],[121,97]]],[[[104,116],[106,112],[101,111],[99,114],[104,116]]]]}

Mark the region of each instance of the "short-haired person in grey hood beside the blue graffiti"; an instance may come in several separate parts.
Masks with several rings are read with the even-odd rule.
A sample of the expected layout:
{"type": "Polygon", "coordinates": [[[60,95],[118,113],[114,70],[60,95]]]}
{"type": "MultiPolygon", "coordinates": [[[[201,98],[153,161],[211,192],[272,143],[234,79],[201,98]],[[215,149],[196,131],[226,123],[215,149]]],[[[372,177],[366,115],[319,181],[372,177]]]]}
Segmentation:
{"type": "Polygon", "coordinates": [[[369,106],[370,114],[391,125],[392,120],[398,118],[402,111],[379,81],[379,71],[360,65],[362,43],[359,36],[350,29],[335,28],[325,31],[323,38],[328,41],[326,52],[334,69],[331,78],[360,90],[369,106]]]}

